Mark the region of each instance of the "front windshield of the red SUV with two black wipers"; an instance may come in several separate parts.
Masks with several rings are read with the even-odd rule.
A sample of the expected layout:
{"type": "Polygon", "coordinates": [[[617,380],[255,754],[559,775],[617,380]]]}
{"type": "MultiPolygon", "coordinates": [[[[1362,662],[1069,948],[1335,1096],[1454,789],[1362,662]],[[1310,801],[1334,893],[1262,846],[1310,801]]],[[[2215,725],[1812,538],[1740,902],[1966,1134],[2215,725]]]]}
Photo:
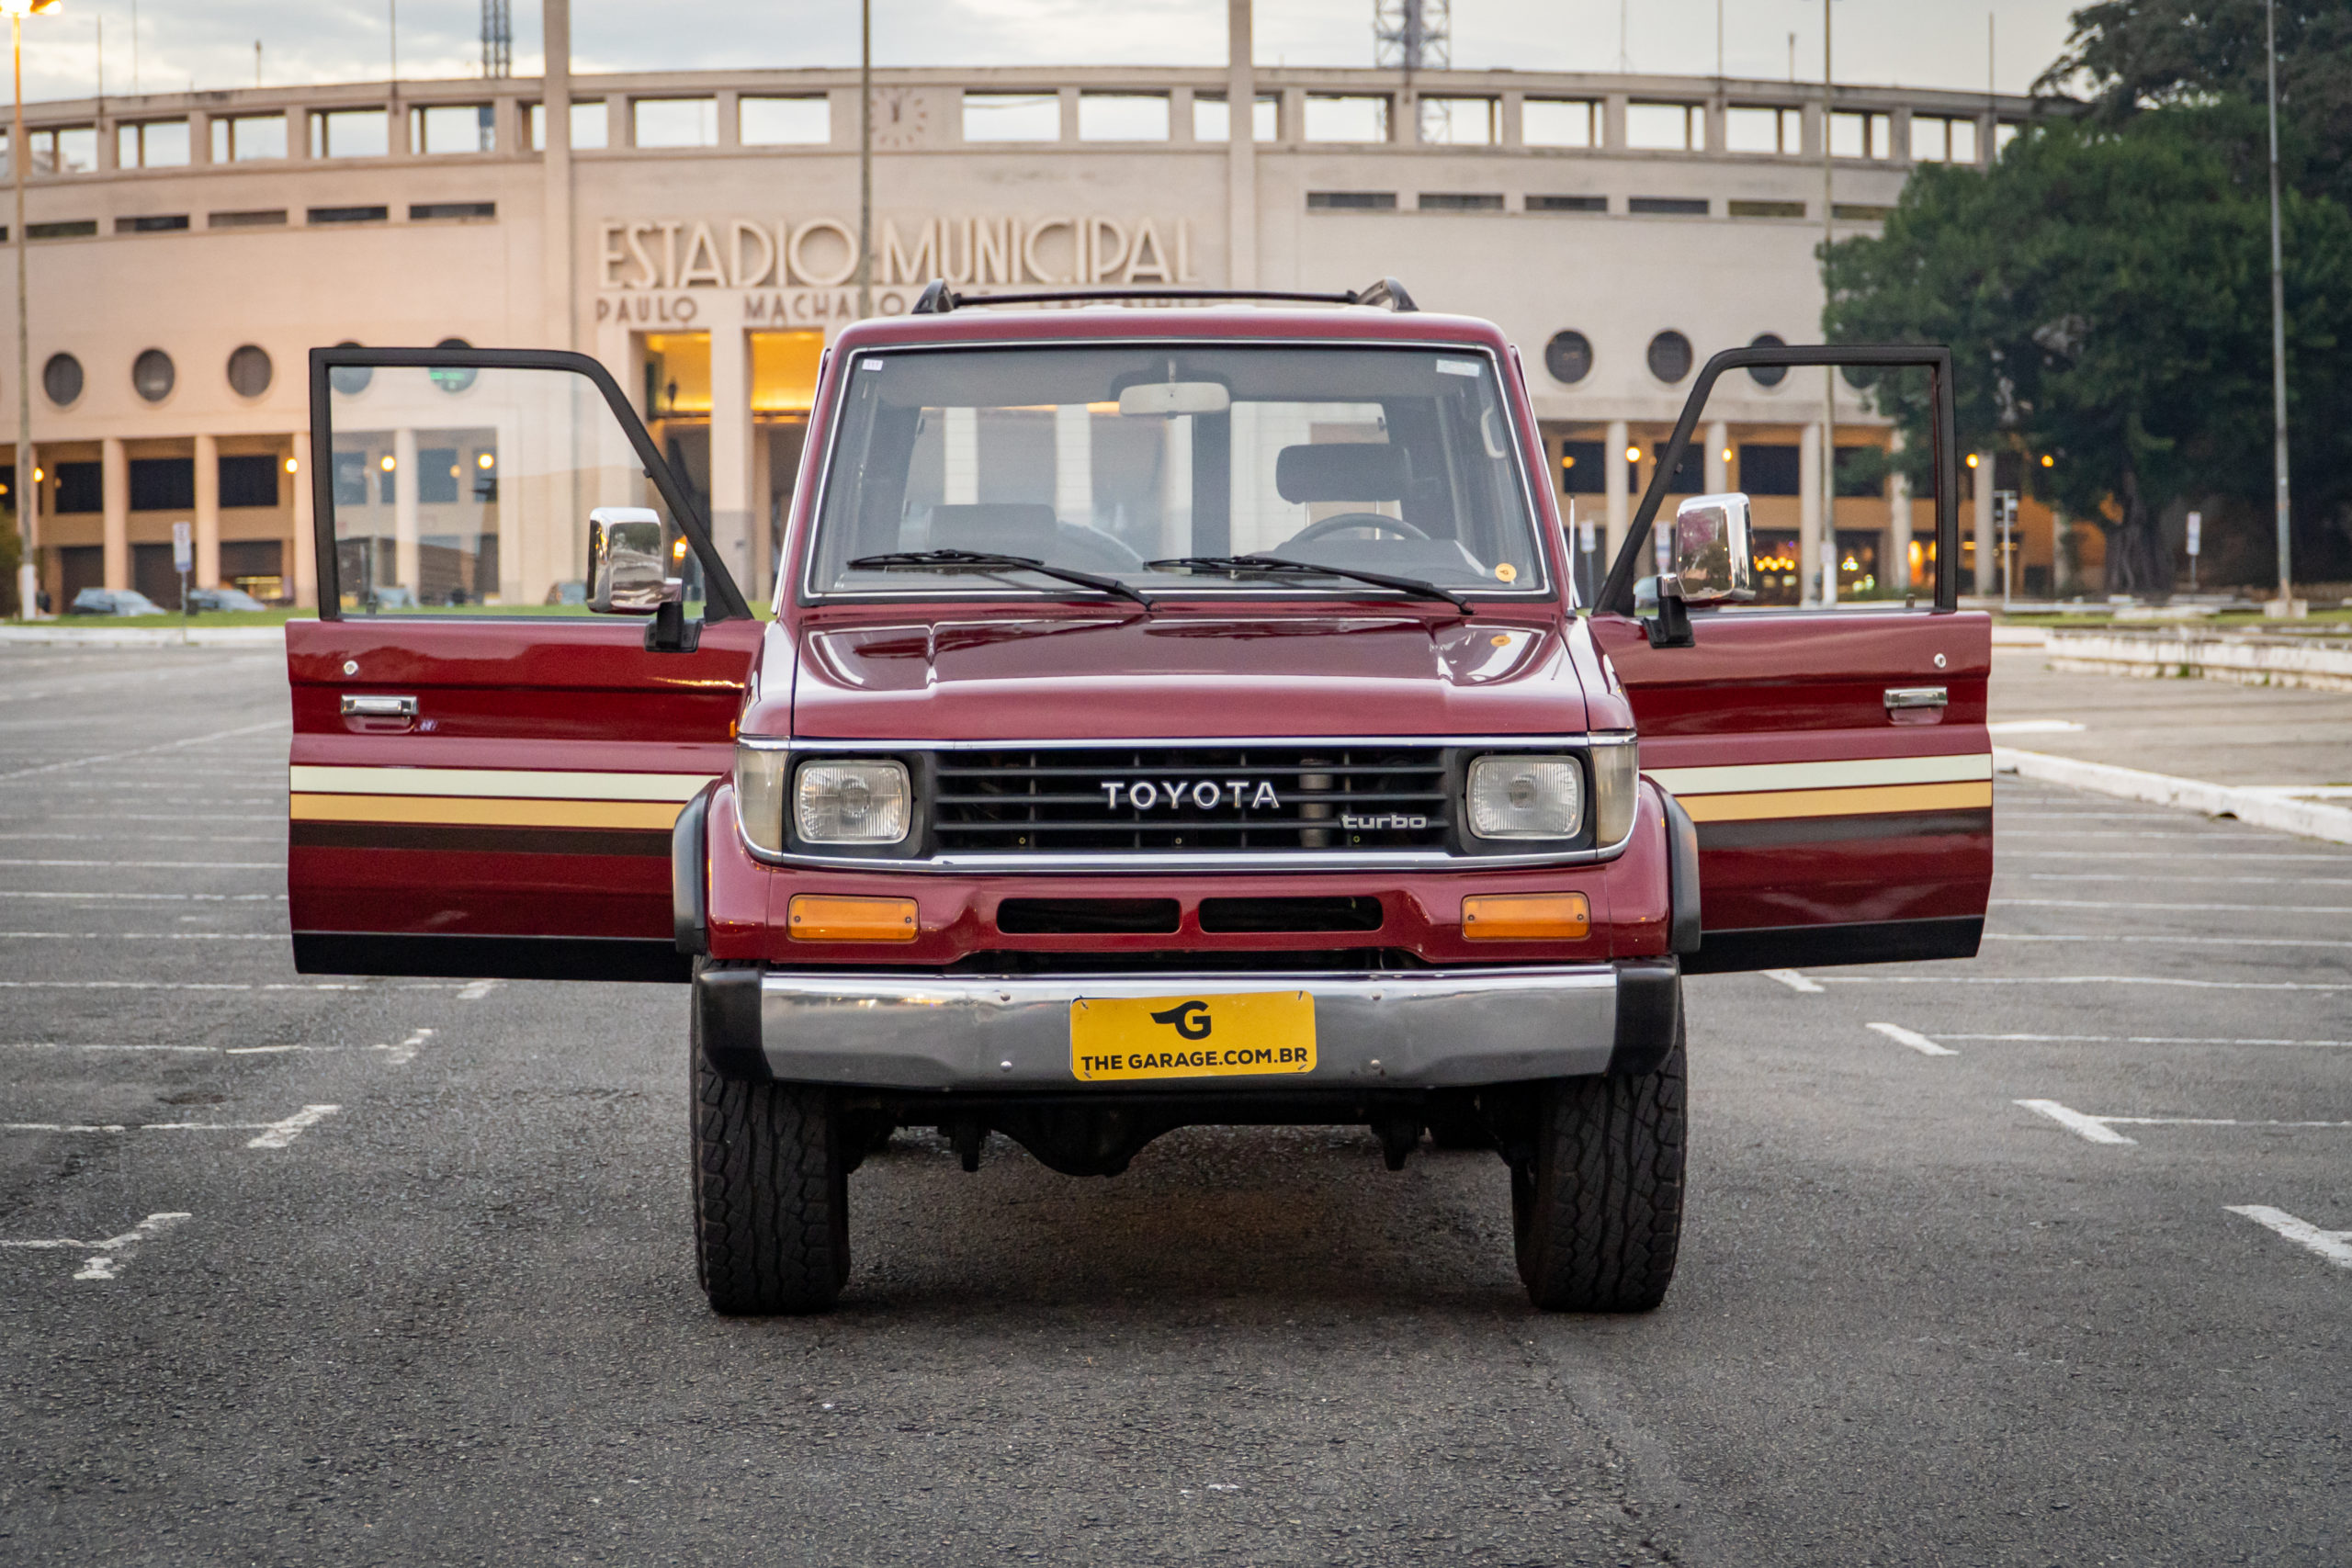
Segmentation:
{"type": "Polygon", "coordinates": [[[1120,343],[858,355],[811,592],[1390,590],[1176,557],[1279,555],[1451,590],[1543,592],[1494,360],[1477,348],[1120,343]],[[880,562],[875,557],[901,557],[880,562]]]}

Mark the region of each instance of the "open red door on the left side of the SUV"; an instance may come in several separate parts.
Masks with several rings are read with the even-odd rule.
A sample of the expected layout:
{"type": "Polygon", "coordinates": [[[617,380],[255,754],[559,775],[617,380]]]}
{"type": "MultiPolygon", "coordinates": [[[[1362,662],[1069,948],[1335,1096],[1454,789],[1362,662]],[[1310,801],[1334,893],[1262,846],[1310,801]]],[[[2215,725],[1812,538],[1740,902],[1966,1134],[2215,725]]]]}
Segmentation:
{"type": "Polygon", "coordinates": [[[287,625],[303,973],[684,980],[670,827],[760,623],[602,364],[310,350],[320,618],[287,625]],[[590,614],[590,515],[654,618],[590,614]],[[647,543],[652,541],[652,543],[647,543]]]}

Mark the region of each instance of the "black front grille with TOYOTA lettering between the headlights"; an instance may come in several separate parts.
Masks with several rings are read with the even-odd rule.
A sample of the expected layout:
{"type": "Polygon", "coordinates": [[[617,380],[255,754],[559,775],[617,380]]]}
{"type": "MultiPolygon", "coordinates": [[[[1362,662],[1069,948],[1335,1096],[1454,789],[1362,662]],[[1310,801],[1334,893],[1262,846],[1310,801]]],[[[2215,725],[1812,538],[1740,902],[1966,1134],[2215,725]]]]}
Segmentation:
{"type": "Polygon", "coordinates": [[[1444,849],[1437,745],[990,748],[938,755],[941,853],[1444,849]]]}

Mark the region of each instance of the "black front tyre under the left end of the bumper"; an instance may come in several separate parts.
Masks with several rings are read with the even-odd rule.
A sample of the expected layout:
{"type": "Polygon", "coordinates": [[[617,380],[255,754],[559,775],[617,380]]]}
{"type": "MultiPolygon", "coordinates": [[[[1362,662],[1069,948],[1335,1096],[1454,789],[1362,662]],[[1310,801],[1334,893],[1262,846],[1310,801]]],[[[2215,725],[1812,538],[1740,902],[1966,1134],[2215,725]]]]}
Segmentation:
{"type": "Polygon", "coordinates": [[[741,1084],[694,1039],[694,1267],[727,1314],[826,1312],[849,1281],[849,1164],[833,1095],[741,1084]]]}

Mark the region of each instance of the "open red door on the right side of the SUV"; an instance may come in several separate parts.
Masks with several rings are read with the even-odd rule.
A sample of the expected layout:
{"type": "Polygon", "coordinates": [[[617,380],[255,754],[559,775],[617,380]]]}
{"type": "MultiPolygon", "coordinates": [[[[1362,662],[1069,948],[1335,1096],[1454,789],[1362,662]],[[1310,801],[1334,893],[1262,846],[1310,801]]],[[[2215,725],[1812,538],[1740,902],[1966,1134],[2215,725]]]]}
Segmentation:
{"type": "MultiPolygon", "coordinates": [[[[1823,489],[1835,510],[1835,477],[1823,489]]],[[[1992,618],[1959,609],[1947,348],[1733,348],[1708,360],[1595,595],[1592,637],[1632,703],[1642,771],[1698,827],[1703,936],[1686,973],[1976,954],[1992,889],[1992,618]],[[1635,576],[1708,393],[1731,369],[1799,364],[1926,369],[1933,607],[1710,607],[1689,614],[1686,639],[1672,635],[1679,625],[1658,635],[1635,616],[1635,576]]]]}

